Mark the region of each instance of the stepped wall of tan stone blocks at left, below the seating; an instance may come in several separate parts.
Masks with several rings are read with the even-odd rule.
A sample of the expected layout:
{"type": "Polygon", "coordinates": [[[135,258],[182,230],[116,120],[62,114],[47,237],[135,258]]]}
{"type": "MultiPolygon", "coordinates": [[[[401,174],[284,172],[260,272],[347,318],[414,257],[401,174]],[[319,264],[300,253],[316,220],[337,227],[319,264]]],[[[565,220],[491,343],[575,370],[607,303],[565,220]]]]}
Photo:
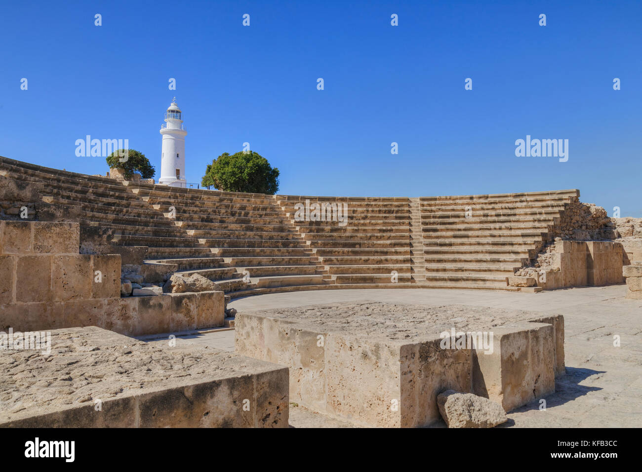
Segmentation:
{"type": "Polygon", "coordinates": [[[223,326],[223,292],[121,299],[121,256],[78,254],[79,235],[78,223],[0,222],[0,329],[144,335],[223,326]]]}

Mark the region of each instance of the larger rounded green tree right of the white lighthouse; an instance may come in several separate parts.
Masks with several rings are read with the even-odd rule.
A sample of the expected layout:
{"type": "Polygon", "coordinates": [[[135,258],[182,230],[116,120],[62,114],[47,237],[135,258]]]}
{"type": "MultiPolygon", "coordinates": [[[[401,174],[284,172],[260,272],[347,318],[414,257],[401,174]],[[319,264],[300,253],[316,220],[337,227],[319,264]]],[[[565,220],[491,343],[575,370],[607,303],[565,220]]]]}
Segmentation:
{"type": "Polygon", "coordinates": [[[228,192],[274,195],[279,190],[279,170],[254,151],[224,152],[207,164],[201,184],[228,192]]]}

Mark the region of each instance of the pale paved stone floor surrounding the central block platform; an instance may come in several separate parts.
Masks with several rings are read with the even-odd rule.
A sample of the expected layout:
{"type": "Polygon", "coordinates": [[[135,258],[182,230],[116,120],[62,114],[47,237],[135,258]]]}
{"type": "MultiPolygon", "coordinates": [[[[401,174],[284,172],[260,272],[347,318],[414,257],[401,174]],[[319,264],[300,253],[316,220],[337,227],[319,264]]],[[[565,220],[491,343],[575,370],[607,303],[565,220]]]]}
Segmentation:
{"type": "MultiPolygon", "coordinates": [[[[270,293],[232,301],[237,310],[266,310],[350,301],[463,304],[541,313],[562,313],[566,376],[557,379],[546,410],[534,401],[508,414],[503,426],[642,427],[642,301],[624,298],[625,285],[571,288],[541,293],[491,290],[316,290],[270,293]],[[614,336],[620,347],[614,347],[614,336]]],[[[213,331],[178,342],[234,349],[234,331],[213,331]]],[[[351,424],[290,405],[290,426],[350,427],[351,424]]],[[[444,424],[440,425],[444,426],[444,424]]]]}

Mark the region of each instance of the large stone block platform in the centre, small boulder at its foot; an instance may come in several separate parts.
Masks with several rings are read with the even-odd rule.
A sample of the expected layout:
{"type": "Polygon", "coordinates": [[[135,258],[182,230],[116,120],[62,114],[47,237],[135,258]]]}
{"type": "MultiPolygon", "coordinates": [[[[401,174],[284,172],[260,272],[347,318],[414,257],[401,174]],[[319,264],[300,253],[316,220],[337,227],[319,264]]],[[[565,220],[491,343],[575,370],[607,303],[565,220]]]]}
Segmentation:
{"type": "Polygon", "coordinates": [[[446,389],[511,410],[564,373],[561,315],[364,302],[237,313],[235,334],[237,353],[290,367],[292,401],[372,426],[428,426],[446,389]],[[442,349],[451,328],[494,333],[493,353],[442,349]]]}

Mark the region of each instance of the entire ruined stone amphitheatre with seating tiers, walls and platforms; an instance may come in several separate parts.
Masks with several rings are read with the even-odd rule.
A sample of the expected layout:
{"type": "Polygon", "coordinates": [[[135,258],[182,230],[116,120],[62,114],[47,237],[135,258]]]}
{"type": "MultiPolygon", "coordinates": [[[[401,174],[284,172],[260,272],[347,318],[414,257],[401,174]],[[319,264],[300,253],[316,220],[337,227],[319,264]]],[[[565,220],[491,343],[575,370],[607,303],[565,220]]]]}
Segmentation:
{"type": "Polygon", "coordinates": [[[0,340],[51,331],[0,356],[0,425],[435,426],[444,390],[530,408],[572,377],[575,312],[537,297],[641,306],[641,221],[579,198],[232,193],[0,157],[0,340]],[[450,327],[494,351],[440,348],[450,327]],[[211,333],[236,348],[189,341],[211,333]]]}

